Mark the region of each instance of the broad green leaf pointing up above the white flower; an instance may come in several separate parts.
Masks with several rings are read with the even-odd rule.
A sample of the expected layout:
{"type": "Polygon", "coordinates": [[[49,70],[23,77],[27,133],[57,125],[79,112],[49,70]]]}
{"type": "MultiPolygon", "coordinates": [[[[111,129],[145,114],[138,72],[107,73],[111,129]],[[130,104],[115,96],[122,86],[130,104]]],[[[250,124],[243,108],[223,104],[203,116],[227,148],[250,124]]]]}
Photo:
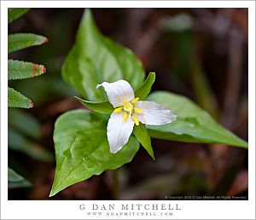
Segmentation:
{"type": "Polygon", "coordinates": [[[67,84],[90,101],[107,100],[104,90],[96,90],[97,84],[125,79],[137,89],[145,77],[142,63],[130,49],[102,36],[90,9],[84,12],[61,73],[67,84]]]}

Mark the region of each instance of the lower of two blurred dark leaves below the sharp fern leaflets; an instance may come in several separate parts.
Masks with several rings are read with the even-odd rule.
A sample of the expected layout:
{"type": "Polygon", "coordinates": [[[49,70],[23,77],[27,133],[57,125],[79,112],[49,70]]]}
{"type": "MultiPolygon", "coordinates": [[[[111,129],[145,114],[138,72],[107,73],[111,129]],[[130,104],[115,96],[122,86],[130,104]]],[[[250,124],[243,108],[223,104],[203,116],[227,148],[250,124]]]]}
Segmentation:
{"type": "Polygon", "coordinates": [[[8,130],[8,145],[10,149],[26,153],[33,159],[45,162],[52,162],[54,159],[49,150],[38,143],[31,142],[25,136],[20,135],[20,133],[11,128],[8,130]]]}

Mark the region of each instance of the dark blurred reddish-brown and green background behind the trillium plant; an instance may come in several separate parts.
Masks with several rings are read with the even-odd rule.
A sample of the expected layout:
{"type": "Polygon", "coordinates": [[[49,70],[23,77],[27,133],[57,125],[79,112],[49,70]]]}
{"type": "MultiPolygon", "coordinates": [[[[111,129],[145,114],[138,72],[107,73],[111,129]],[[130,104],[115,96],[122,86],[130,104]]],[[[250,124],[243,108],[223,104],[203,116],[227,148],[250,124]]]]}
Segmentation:
{"type": "MultiPolygon", "coordinates": [[[[9,109],[9,200],[49,200],[55,173],[55,119],[83,108],[61,78],[84,9],[31,9],[9,33],[34,32],[49,43],[9,55],[42,63],[39,78],[9,84],[34,102],[9,109]],[[17,177],[17,175],[19,177],[17,177]],[[13,177],[13,178],[12,178],[13,177]],[[25,177],[26,179],[24,179],[25,177]],[[11,182],[13,179],[17,182],[11,182]],[[22,188],[20,188],[22,187],[22,188]]],[[[247,140],[247,9],[92,9],[104,35],[132,49],[153,90],[188,96],[224,127],[247,140]]],[[[136,74],[136,72],[135,72],[136,74]]],[[[247,196],[247,150],[216,144],[152,139],[155,160],[143,148],[119,168],[120,199],[165,200],[169,195],[247,196]]],[[[79,182],[50,200],[110,200],[111,173],[79,182]]]]}

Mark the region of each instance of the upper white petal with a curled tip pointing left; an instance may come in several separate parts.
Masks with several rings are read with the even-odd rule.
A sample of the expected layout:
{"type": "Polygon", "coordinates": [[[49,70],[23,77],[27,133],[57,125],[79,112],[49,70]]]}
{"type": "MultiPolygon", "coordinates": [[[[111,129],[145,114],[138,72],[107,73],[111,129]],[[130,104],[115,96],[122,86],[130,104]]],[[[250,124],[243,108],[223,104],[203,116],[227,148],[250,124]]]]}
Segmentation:
{"type": "Polygon", "coordinates": [[[134,99],[134,92],[129,84],[125,80],[118,80],[114,83],[103,82],[102,84],[97,84],[96,89],[103,86],[107,93],[108,100],[113,105],[113,107],[119,107],[123,105],[123,101],[131,101],[134,99]]]}

